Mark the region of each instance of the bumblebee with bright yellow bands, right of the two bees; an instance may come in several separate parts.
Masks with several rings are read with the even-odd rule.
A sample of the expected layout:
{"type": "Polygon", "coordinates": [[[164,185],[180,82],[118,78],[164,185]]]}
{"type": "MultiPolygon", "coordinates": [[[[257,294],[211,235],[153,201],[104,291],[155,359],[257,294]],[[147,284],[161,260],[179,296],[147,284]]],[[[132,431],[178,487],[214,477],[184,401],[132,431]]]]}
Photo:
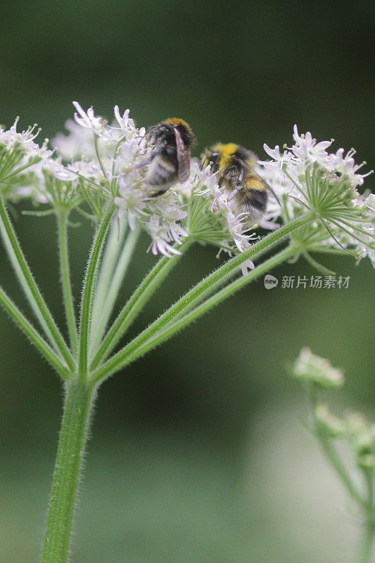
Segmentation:
{"type": "Polygon", "coordinates": [[[248,213],[252,223],[265,213],[267,191],[272,191],[255,172],[256,161],[252,151],[234,143],[217,143],[201,156],[202,165],[211,164],[212,172],[217,172],[219,186],[231,191],[229,201],[233,201],[236,213],[248,213]]]}

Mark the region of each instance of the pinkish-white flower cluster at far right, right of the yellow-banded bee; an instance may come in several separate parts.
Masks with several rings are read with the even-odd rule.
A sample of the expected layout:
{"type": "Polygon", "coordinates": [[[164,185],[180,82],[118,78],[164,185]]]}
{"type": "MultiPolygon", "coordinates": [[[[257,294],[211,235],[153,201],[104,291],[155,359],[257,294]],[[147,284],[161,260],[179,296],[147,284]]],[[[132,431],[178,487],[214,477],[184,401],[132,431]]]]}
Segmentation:
{"type": "Polygon", "coordinates": [[[371,171],[360,173],[365,163],[355,163],[354,150],[330,153],[333,140],[317,143],[310,132],[300,135],[296,125],[293,141],[284,150],[265,144],[272,160],[258,161],[262,177],[284,200],[284,220],[312,209],[317,222],[306,232],[311,250],[346,250],[374,264],[374,194],[357,191],[371,171]]]}

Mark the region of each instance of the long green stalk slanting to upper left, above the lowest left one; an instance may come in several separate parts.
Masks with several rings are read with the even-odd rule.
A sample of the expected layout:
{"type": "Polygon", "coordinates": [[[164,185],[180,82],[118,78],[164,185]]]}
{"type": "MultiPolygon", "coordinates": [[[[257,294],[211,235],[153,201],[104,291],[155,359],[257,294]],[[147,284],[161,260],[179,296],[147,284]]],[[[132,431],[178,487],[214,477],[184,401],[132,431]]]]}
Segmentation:
{"type": "Polygon", "coordinates": [[[35,315],[39,322],[42,324],[46,335],[49,336],[51,343],[55,346],[56,350],[61,354],[69,369],[75,369],[75,362],[70,354],[70,350],[66,345],[63,336],[61,336],[58,327],[53,320],[51,312],[40,293],[37,284],[32,276],[29,266],[23,251],[21,250],[20,243],[18,243],[17,236],[9,220],[8,213],[4,204],[4,199],[0,194],[0,231],[4,239],[6,251],[11,259],[11,263],[17,274],[20,284],[25,291],[26,297],[34,310],[35,315]]]}

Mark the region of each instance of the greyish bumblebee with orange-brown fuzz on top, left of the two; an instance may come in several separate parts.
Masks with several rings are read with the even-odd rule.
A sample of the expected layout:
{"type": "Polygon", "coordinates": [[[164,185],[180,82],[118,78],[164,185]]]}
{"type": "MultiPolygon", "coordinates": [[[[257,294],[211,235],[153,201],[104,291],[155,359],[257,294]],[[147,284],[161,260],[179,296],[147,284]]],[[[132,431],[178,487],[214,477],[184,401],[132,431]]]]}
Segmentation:
{"type": "Polygon", "coordinates": [[[173,184],[186,182],[190,175],[190,148],[196,137],[189,123],[179,118],[169,118],[154,125],[146,132],[145,138],[153,144],[151,156],[136,165],[148,165],[145,182],[155,193],[164,194],[173,184]]]}

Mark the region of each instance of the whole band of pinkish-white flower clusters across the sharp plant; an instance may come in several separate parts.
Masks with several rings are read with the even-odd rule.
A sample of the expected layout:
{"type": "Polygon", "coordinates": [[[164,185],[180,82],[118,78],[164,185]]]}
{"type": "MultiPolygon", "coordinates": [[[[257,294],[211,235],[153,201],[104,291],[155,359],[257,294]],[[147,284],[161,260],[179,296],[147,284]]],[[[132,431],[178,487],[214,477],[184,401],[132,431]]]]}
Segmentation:
{"type": "MultiPolygon", "coordinates": [[[[66,123],[68,135],[52,139],[53,151],[37,145],[34,127],[19,133],[16,120],[8,131],[0,129],[5,165],[0,180],[6,198],[32,198],[52,210],[63,205],[96,220],[106,203],[114,201],[120,220],[130,229],[144,229],[152,252],[167,256],[179,253],[179,244],[189,236],[229,255],[246,251],[258,239],[257,225],[236,212],[210,165],[201,169],[193,159],[184,184],[153,198],[144,182],[145,168],[134,168],[153,150],[146,129],[134,125],[129,110],[121,115],[115,106],[110,125],[93,108],[84,111],[79,103],[74,105],[75,120],[66,123]]],[[[363,163],[355,164],[354,151],[345,154],[338,148],[329,153],[331,141],[318,143],[310,132],[298,134],[296,126],[293,141],[284,150],[265,145],[272,160],[258,161],[256,171],[277,196],[269,197],[260,227],[277,229],[280,222],[314,210],[317,220],[306,229],[301,248],[345,249],[374,263],[375,196],[357,191],[370,172],[360,173],[363,163]]],[[[246,267],[253,263],[248,260],[245,272],[246,267]]]]}

